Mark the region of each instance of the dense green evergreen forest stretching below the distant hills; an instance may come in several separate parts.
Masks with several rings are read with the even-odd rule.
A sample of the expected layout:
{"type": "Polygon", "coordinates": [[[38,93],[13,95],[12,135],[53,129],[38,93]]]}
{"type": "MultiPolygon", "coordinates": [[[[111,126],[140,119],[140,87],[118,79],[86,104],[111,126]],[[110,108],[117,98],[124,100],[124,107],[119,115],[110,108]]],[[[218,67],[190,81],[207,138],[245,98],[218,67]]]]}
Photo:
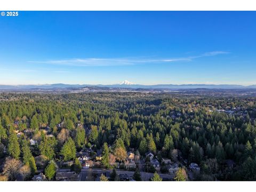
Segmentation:
{"type": "Polygon", "coordinates": [[[1,93],[0,178],[17,179],[14,164],[24,180],[31,179],[41,169],[35,158],[43,156],[50,180],[53,162],[71,159],[76,165],[75,153],[91,147],[103,148],[106,167],[106,153],[122,162],[124,151],[141,157],[151,151],[159,161],[178,157],[197,163],[201,173],[195,180],[256,180],[255,118],[251,97],[1,93]]]}

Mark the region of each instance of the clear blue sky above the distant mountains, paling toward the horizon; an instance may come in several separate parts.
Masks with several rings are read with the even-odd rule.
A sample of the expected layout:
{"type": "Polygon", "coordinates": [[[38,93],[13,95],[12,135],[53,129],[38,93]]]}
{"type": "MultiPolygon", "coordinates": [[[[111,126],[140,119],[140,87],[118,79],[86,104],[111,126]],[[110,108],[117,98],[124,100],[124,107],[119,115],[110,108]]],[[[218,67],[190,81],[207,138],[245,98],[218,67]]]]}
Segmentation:
{"type": "Polygon", "coordinates": [[[0,84],[256,84],[256,12],[0,17],[0,84]]]}

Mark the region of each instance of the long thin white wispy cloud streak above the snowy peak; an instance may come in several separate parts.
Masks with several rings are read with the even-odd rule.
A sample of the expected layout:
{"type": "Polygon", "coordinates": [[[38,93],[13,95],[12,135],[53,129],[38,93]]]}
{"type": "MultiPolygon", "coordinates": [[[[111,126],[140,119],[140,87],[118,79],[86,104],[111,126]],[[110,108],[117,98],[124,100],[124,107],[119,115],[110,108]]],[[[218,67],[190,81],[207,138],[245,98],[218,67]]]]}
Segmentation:
{"type": "MultiPolygon", "coordinates": [[[[28,61],[31,63],[46,63],[61,66],[125,66],[138,65],[142,63],[170,63],[175,61],[191,61],[202,57],[213,57],[219,54],[228,54],[225,51],[206,52],[201,55],[183,57],[183,58],[157,58],[157,59],[141,59],[141,58],[86,58],[86,59],[65,59],[65,60],[48,60],[48,61],[28,61]]],[[[58,72],[57,72],[58,73],[58,72]]],[[[61,73],[61,72],[59,72],[61,73]]]]}

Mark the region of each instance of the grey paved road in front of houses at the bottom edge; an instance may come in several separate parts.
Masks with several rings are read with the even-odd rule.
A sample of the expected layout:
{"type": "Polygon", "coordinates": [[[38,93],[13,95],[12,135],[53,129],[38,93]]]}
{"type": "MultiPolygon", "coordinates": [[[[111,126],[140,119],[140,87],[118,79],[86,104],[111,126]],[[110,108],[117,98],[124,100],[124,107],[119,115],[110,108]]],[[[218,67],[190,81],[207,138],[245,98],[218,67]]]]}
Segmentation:
{"type": "MultiPolygon", "coordinates": [[[[87,181],[93,179],[93,174],[101,174],[105,172],[112,172],[112,170],[106,170],[106,169],[82,169],[81,171],[81,181],[87,181]]],[[[117,174],[127,174],[130,178],[133,177],[134,172],[133,171],[124,171],[124,170],[116,170],[117,174]]],[[[140,172],[141,179],[143,181],[148,181],[151,177],[153,177],[154,173],[148,173],[148,172],[140,172]]],[[[161,178],[172,180],[174,178],[173,174],[159,174],[161,178]]]]}

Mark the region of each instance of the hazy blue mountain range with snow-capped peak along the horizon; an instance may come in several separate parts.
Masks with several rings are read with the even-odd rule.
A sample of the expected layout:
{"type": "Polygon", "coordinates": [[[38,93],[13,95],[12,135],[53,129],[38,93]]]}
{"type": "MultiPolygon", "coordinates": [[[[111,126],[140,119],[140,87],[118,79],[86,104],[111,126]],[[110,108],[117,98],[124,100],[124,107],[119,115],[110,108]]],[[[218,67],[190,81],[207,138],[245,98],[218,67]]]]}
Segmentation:
{"type": "Polygon", "coordinates": [[[158,84],[158,85],[140,85],[129,81],[123,81],[112,85],[90,85],[90,84],[37,84],[37,85],[0,85],[0,90],[52,90],[52,89],[81,89],[83,87],[105,87],[115,89],[151,89],[151,90],[187,90],[187,89],[256,89],[256,85],[229,85],[229,84],[158,84]]]}

